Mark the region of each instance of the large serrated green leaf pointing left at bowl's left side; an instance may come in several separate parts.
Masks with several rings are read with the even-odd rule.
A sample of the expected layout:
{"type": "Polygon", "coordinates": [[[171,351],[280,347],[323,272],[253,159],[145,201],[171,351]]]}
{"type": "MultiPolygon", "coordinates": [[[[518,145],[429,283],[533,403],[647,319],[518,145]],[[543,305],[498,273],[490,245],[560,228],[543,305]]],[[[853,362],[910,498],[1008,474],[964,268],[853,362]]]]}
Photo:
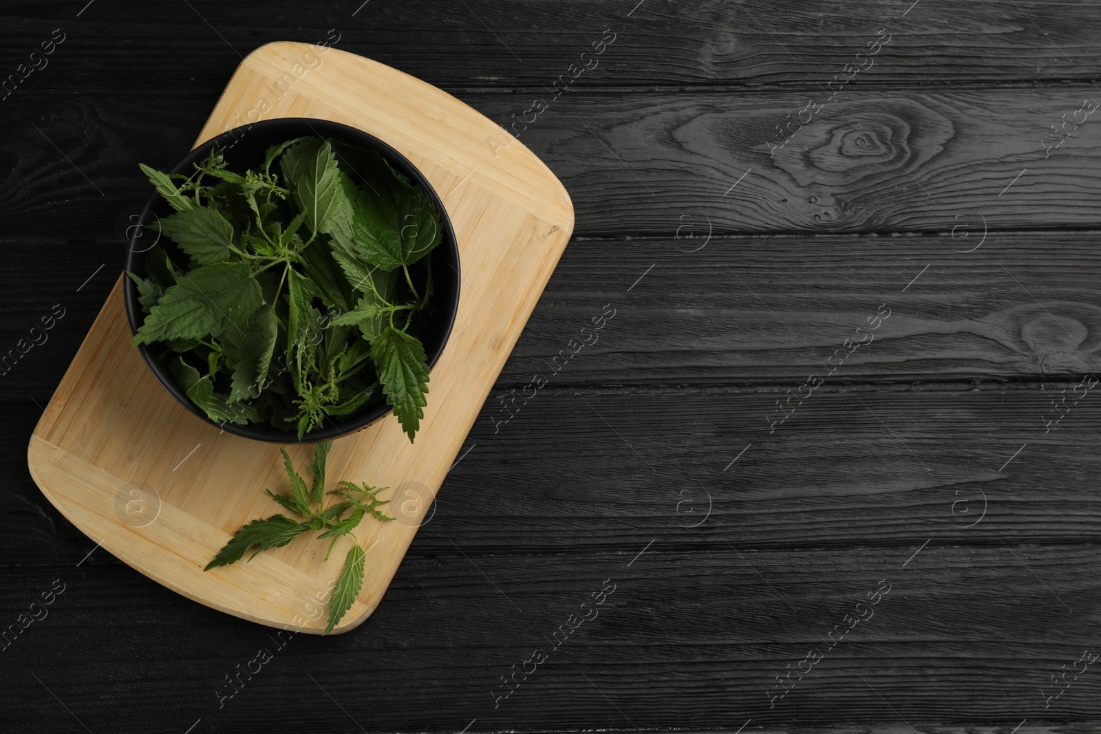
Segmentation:
{"type": "Polygon", "coordinates": [[[150,309],[132,346],[168,339],[201,339],[240,329],[262,304],[260,284],[244,263],[193,270],[150,309]]]}

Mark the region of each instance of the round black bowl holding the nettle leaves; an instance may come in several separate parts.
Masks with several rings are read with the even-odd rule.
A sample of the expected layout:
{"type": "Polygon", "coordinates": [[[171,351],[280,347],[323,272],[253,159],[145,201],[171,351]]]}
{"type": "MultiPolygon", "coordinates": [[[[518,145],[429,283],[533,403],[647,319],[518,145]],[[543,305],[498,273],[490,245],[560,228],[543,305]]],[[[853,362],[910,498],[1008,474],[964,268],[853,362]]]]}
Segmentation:
{"type": "MultiPolygon", "coordinates": [[[[383,158],[401,173],[416,180],[428,196],[432,197],[439,212],[440,221],[444,226],[443,241],[436,245],[432,254],[432,269],[435,292],[432,304],[430,316],[424,319],[418,330],[418,337],[424,344],[425,353],[430,368],[439,359],[444,344],[451,333],[451,326],[455,324],[455,314],[459,307],[459,248],[455,241],[455,230],[451,228],[450,219],[444,209],[444,202],[433,189],[428,179],[424,177],[417,168],[410,163],[408,158],[395,151],[393,147],[382,142],[374,135],[349,128],[348,125],[327,120],[314,120],[308,118],[281,118],[275,120],[263,120],[241,128],[236,128],[221,133],[217,138],[208,140],[181,161],[171,173],[183,173],[190,175],[195,168],[194,163],[205,158],[211,149],[217,147],[225,156],[228,168],[233,172],[243,173],[248,168],[260,168],[263,166],[264,153],[272,145],[277,145],[294,138],[303,135],[318,135],[321,138],[333,138],[342,140],[355,145],[359,145],[369,151],[379,153],[383,158]]],[[[155,232],[144,229],[145,224],[153,222],[157,217],[166,217],[173,213],[173,209],[154,194],[145,209],[142,211],[140,223],[142,227],[131,227],[128,230],[130,237],[127,243],[126,269],[137,275],[144,275],[143,261],[145,252],[153,244],[160,244],[176,263],[186,263],[187,258],[181,253],[174,242],[168,238],[159,238],[155,232]]],[[[130,329],[137,333],[138,328],[145,319],[145,314],[138,302],[138,286],[130,278],[123,278],[126,288],[127,318],[130,320],[130,329]]],[[[166,360],[162,360],[160,354],[164,351],[161,344],[140,344],[138,349],[145,358],[149,369],[153,371],[156,379],[164,385],[168,393],[179,401],[179,404],[194,413],[201,420],[217,426],[231,434],[244,436],[259,441],[274,441],[279,443],[312,443],[315,441],[336,438],[360,428],[364,428],[383,416],[390,416],[391,420],[397,420],[392,415],[391,407],[383,399],[372,398],[358,413],[344,419],[342,423],[335,423],[333,418],[327,418],[326,424],[320,428],[308,431],[299,439],[295,431],[284,431],[275,428],[271,424],[249,424],[239,426],[232,423],[218,424],[210,418],[187,397],[184,391],[176,384],[168,371],[166,360]]],[[[381,395],[381,391],[379,393],[381,395]]],[[[432,405],[429,393],[428,404],[432,405]]]]}

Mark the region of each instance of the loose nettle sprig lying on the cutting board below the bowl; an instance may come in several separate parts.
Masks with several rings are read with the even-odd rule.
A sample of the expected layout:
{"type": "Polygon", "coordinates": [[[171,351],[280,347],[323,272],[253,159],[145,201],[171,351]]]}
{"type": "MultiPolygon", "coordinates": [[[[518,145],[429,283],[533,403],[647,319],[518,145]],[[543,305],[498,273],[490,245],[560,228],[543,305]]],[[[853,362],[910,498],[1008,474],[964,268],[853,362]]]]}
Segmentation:
{"type": "Polygon", "coordinates": [[[309,465],[313,481],[308,489],[306,480],[295,471],[291,457],[287,456],[286,451],[280,449],[283,453],[283,468],[291,480],[291,492],[290,494],[275,494],[271,490],[265,491],[272,500],[284,508],[305,519],[295,521],[282,513],[265,519],[254,519],[235,533],[229,543],[214,557],[214,560],[203,569],[209,571],[218,566],[229,566],[241,560],[253,546],[260,546],[255,552],[249,556],[249,560],[252,560],[261,550],[281,548],[309,530],[324,530],[317,536],[318,540],[331,538],[329,547],[325,551],[325,560],[328,560],[337,540],[345,535],[351,536],[352,547],[345,556],[344,570],[340,571],[336,589],[329,601],[329,621],[325,632],[321,633],[326,635],[333,632],[333,627],[351,609],[352,602],[356,601],[356,596],[363,587],[367,554],[356,536],[352,535],[352,530],[367,515],[378,521],[394,519],[379,510],[380,506],[390,502],[390,500],[379,500],[378,497],[379,492],[388,489],[385,486],[372,487],[366,483],[357,486],[351,482],[341,481],[338,489],[327,493],[330,496],[335,495],[339,501],[324,507],[326,495],[325,462],[331,448],[333,441],[321,441],[314,450],[314,460],[309,465]]]}

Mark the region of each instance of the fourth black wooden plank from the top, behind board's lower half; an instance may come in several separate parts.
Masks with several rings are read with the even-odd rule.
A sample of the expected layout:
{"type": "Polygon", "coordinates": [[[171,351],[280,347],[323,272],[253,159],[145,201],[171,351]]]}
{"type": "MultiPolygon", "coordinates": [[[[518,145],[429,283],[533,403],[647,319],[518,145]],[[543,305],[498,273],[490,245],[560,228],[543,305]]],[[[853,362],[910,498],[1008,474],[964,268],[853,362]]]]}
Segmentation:
{"type": "MultiPolygon", "coordinates": [[[[772,432],[786,387],[547,387],[508,423],[494,425],[503,412],[492,406],[481,412],[411,552],[456,555],[460,540],[471,557],[609,552],[653,539],[683,551],[726,540],[830,552],[913,538],[1098,541],[1101,403],[1082,388],[1075,405],[1073,386],[827,383],[772,432]],[[1064,397],[1056,423],[1051,404],[1064,397]]],[[[7,413],[13,443],[37,408],[7,413]]],[[[86,544],[19,460],[0,454],[18,478],[8,485],[18,522],[0,555],[77,560],[86,544]]],[[[161,480],[146,481],[167,499],[161,480]]],[[[269,485],[266,475],[246,484],[269,485]]],[[[421,497],[397,500],[412,514],[421,497]]],[[[274,505],[261,496],[250,508],[274,505]]]]}

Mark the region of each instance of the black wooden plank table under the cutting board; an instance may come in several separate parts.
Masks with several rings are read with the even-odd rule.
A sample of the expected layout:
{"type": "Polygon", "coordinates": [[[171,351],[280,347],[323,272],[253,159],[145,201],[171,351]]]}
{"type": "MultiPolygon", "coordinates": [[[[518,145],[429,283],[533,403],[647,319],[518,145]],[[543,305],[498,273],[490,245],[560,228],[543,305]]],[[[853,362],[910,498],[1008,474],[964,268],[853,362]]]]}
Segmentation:
{"type": "Polygon", "coordinates": [[[0,730],[1101,731],[1097,3],[86,2],[0,10],[0,730]],[[276,40],[516,123],[577,210],[378,611],[285,643],[25,461],[138,163],[276,40]]]}

